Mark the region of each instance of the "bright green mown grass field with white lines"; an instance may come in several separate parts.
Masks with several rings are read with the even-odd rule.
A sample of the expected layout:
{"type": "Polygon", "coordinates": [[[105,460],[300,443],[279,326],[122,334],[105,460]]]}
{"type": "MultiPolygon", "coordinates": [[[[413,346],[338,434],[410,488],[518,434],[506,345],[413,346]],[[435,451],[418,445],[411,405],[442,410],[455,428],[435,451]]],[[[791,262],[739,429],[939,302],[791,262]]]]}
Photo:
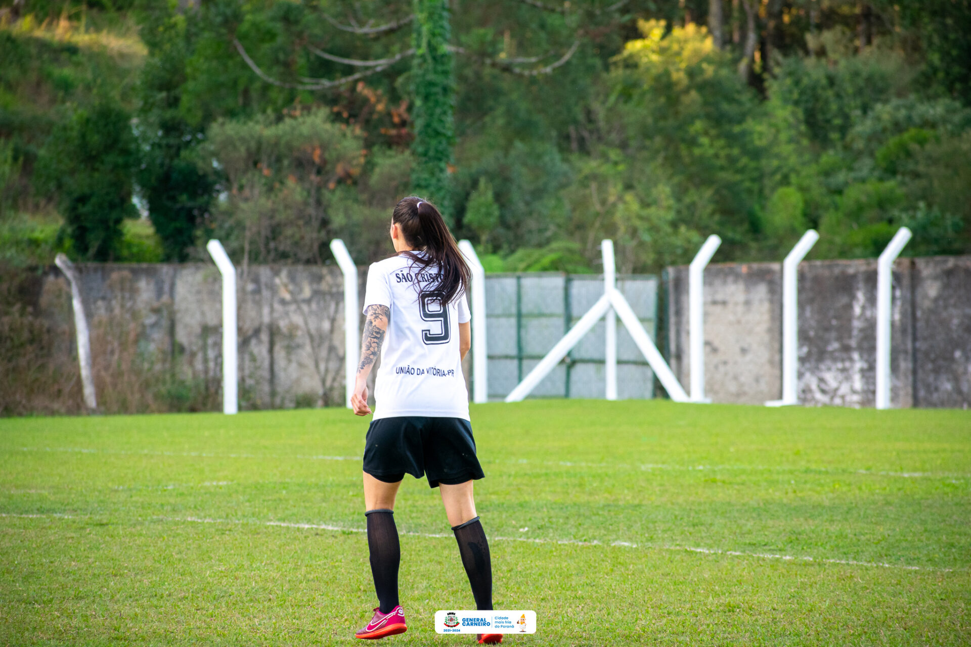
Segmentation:
{"type": "MultiPolygon", "coordinates": [[[[971,412],[472,410],[496,608],[535,645],[971,644],[971,412]]],[[[343,409],[0,420],[0,644],[350,644],[377,604],[343,409]]],[[[406,477],[399,645],[467,644],[406,477]]]]}

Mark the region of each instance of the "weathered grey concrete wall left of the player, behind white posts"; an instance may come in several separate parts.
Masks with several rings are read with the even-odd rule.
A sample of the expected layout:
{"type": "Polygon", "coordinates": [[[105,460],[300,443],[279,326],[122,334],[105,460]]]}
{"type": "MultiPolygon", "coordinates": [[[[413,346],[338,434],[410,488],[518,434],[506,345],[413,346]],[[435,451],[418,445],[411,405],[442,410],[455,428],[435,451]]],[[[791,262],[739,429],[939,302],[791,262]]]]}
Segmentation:
{"type": "MultiPolygon", "coordinates": [[[[137,335],[143,352],[178,357],[181,370],[218,383],[222,283],[215,266],[81,263],[78,271],[92,335],[137,335]]],[[[359,271],[361,290],[366,272],[359,271]]],[[[241,406],[342,404],[340,270],[250,266],[237,268],[237,279],[241,406]]],[[[51,268],[42,284],[58,280],[51,268]]]]}

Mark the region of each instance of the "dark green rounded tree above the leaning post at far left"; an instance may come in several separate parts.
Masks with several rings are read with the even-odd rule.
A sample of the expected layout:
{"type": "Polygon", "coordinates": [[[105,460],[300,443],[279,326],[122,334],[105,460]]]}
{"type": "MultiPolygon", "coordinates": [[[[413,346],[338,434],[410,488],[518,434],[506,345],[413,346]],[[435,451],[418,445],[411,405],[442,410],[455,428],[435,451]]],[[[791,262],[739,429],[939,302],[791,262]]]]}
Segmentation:
{"type": "Polygon", "coordinates": [[[136,214],[131,197],[138,150],[128,113],[107,101],[79,110],[54,128],[41,164],[75,253],[117,260],[121,221],[136,214]]]}

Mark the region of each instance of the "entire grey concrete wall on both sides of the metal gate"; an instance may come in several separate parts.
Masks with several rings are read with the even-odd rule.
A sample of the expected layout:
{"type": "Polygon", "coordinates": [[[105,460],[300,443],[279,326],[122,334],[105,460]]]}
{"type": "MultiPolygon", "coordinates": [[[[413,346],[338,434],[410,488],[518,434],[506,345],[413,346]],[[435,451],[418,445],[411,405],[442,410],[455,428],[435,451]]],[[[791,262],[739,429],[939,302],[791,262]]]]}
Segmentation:
{"type": "MultiPolygon", "coordinates": [[[[180,370],[218,389],[221,280],[215,266],[78,268],[92,335],[135,335],[147,355],[176,358],[180,370]]],[[[358,273],[363,297],[367,269],[358,273]]],[[[875,260],[809,261],[800,266],[803,403],[873,405],[876,282],[875,260]]],[[[342,404],[340,270],[251,266],[238,269],[238,283],[241,405],[342,404]]],[[[24,284],[33,295],[28,301],[56,301],[40,310],[69,320],[70,294],[58,270],[31,275],[24,284]]],[[[687,268],[670,268],[665,285],[667,352],[672,370],[686,385],[687,268]]],[[[715,402],[745,404],[779,398],[781,263],[713,264],[705,272],[705,285],[707,395],[715,402]]],[[[557,328],[555,333],[558,339],[562,331],[557,328]]],[[[891,340],[892,405],[971,404],[971,256],[897,261],[891,340]]],[[[110,364],[112,358],[94,360],[110,364]]],[[[470,368],[467,357],[466,379],[470,368]]]]}

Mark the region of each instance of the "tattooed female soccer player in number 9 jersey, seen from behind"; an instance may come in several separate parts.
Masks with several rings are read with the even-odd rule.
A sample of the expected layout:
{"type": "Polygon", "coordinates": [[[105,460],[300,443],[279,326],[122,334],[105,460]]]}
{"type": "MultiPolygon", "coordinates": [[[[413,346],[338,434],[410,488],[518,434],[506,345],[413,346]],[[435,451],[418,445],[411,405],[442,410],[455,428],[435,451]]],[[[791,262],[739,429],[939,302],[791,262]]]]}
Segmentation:
{"type": "MultiPolygon", "coordinates": [[[[368,270],[367,321],[351,399],[354,413],[371,413],[367,377],[381,352],[364,445],[364,515],[379,605],[358,638],[408,629],[398,603],[401,549],[393,512],[406,472],[415,478],[427,473],[428,485],[440,488],[476,607],[492,609],[488,542],[472,497],[472,481],[485,474],[461,367],[472,339],[469,268],[442,214],[424,199],[404,198],[394,207],[390,235],[396,255],[368,270]]],[[[480,633],[478,639],[494,644],[502,634],[480,633]]]]}

